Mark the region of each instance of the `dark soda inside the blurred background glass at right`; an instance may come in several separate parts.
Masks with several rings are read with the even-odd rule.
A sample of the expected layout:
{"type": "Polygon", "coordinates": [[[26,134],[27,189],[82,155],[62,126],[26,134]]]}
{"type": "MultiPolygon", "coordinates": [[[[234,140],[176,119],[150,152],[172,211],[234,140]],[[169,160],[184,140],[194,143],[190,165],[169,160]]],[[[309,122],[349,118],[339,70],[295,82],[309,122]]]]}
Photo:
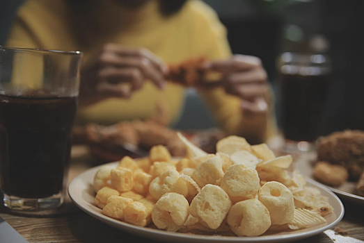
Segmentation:
{"type": "Polygon", "coordinates": [[[329,74],[280,74],[280,118],[285,139],[314,142],[322,135],[329,74]]]}

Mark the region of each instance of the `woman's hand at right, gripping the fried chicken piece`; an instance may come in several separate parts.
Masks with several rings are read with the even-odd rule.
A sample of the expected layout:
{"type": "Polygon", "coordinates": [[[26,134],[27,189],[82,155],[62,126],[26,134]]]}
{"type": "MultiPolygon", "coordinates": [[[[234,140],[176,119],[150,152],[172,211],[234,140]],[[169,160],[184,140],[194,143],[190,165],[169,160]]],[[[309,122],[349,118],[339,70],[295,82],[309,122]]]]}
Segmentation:
{"type": "Polygon", "coordinates": [[[242,99],[241,108],[247,115],[267,113],[269,85],[259,58],[235,55],[228,60],[207,62],[206,67],[221,72],[225,92],[242,99]]]}

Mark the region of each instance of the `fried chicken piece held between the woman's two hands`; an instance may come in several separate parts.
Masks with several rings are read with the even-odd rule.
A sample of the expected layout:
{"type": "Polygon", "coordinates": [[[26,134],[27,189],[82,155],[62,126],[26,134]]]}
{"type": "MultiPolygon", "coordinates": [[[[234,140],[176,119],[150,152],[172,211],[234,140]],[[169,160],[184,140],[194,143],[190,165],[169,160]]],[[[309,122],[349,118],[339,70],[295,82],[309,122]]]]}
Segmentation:
{"type": "Polygon", "coordinates": [[[199,57],[184,60],[177,65],[169,65],[166,79],[185,87],[198,86],[198,83],[203,82],[205,76],[205,61],[205,57],[199,57]]]}

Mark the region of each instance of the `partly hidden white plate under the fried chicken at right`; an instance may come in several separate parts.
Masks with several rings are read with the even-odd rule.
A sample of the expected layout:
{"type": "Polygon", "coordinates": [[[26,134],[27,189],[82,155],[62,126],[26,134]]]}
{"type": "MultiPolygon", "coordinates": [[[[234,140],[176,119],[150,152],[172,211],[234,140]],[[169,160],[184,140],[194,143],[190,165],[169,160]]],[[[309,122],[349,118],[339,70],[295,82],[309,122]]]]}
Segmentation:
{"type": "MultiPolygon", "coordinates": [[[[303,176],[306,176],[306,178],[310,178],[315,181],[315,178],[312,177],[313,166],[311,160],[305,160],[304,158],[297,159],[295,161],[294,167],[298,169],[303,176]]],[[[356,194],[356,183],[354,182],[347,181],[339,187],[330,187],[329,185],[324,186],[337,194],[342,200],[348,200],[354,203],[364,204],[364,197],[356,194]]]]}

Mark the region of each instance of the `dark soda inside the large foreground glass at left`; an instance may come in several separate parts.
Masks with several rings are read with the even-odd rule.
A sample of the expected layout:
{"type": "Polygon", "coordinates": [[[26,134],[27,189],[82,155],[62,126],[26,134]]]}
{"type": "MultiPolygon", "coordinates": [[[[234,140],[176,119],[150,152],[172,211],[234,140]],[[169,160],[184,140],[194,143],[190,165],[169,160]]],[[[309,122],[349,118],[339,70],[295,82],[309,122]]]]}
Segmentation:
{"type": "Polygon", "coordinates": [[[42,199],[67,183],[77,97],[0,95],[0,183],[4,194],[42,199]]]}

